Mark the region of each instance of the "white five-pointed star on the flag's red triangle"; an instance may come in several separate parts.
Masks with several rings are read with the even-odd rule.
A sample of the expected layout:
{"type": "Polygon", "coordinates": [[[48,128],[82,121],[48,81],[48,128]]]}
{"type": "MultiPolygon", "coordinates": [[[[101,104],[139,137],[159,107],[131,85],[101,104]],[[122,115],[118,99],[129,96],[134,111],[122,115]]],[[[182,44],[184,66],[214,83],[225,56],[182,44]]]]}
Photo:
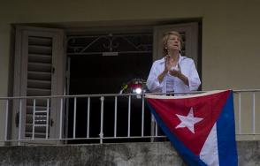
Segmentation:
{"type": "Polygon", "coordinates": [[[178,114],[176,114],[176,116],[180,119],[180,124],[178,124],[175,129],[177,128],[183,128],[183,127],[187,127],[188,130],[190,130],[190,132],[194,132],[194,125],[200,121],[203,120],[203,118],[201,117],[194,117],[193,115],[193,108],[190,108],[187,117],[185,116],[180,116],[178,114]]]}

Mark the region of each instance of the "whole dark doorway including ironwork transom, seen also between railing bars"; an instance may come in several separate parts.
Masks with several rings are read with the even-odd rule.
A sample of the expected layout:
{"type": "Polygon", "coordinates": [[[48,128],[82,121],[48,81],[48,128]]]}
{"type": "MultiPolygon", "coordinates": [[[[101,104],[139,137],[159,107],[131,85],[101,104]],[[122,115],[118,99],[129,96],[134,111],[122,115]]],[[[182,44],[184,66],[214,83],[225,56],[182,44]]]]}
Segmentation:
{"type": "MultiPolygon", "coordinates": [[[[67,50],[70,62],[69,94],[118,94],[123,83],[130,79],[147,79],[152,64],[152,34],[108,34],[71,38],[73,40],[68,41],[67,50]]],[[[100,133],[100,98],[91,98],[90,103],[89,137],[93,138],[98,137],[100,133]]],[[[127,97],[118,99],[118,137],[127,136],[127,103],[127,97]]],[[[86,138],[88,98],[79,98],[76,106],[76,138],[86,138]]],[[[73,108],[74,100],[70,99],[67,116],[69,138],[73,138],[73,108]]],[[[132,98],[131,110],[131,135],[140,136],[141,99],[132,98]]],[[[145,108],[144,113],[144,134],[149,135],[149,109],[145,108]]],[[[113,131],[114,98],[105,97],[104,137],[112,137],[113,131]]],[[[69,143],[98,141],[74,140],[69,143]]],[[[104,142],[113,141],[119,140],[104,140],[104,142]]]]}

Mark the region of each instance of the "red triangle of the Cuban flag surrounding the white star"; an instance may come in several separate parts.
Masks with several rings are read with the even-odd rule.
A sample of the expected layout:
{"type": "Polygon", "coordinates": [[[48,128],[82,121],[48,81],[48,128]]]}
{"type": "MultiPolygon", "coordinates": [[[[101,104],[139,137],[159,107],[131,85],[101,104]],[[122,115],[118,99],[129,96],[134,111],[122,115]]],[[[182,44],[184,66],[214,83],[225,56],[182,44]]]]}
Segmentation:
{"type": "Polygon", "coordinates": [[[199,155],[211,128],[218,120],[229,93],[230,91],[209,95],[196,94],[195,97],[183,98],[167,96],[164,99],[148,98],[148,101],[169,130],[195,155],[199,155]],[[193,112],[191,112],[192,109],[193,112]],[[192,116],[191,113],[193,113],[192,116]],[[180,117],[191,119],[196,117],[196,123],[194,126],[188,127],[189,124],[185,126],[180,117]],[[192,127],[194,127],[194,132],[192,127]]]}

